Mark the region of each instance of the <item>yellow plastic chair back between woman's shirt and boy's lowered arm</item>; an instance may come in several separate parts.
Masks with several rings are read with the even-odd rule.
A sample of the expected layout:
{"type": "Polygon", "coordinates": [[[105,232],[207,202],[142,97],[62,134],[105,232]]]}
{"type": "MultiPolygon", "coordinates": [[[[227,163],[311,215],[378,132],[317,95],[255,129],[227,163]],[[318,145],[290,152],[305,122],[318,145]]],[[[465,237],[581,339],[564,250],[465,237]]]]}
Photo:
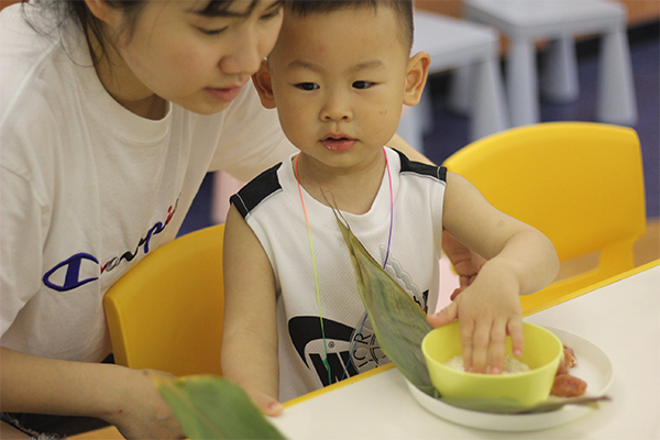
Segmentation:
{"type": "Polygon", "coordinates": [[[221,375],[223,234],[219,224],[183,235],[108,290],[103,306],[118,364],[221,375]]]}

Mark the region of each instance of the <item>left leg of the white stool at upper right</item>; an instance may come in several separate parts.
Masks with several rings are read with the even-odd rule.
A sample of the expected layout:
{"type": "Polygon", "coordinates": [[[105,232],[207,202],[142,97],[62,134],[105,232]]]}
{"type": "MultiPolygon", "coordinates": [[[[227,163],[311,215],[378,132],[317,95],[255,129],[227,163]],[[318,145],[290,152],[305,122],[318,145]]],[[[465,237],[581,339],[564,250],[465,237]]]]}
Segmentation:
{"type": "Polygon", "coordinates": [[[539,122],[535,55],[536,47],[531,40],[509,40],[506,84],[513,127],[539,122]]]}

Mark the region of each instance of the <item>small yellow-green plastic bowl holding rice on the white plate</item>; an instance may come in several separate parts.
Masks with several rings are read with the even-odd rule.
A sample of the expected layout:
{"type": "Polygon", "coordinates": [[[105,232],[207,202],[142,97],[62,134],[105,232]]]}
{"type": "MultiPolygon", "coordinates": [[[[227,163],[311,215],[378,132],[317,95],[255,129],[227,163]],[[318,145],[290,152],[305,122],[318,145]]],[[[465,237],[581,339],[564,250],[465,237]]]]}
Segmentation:
{"type": "MultiPolygon", "coordinates": [[[[512,398],[532,406],[550,395],[554,374],[563,353],[561,341],[550,331],[529,322],[522,323],[525,350],[519,361],[529,371],[512,374],[465,373],[443,363],[461,355],[459,322],[431,330],[421,342],[433,386],[443,397],[512,398]]],[[[506,352],[512,355],[510,338],[506,352]]]]}

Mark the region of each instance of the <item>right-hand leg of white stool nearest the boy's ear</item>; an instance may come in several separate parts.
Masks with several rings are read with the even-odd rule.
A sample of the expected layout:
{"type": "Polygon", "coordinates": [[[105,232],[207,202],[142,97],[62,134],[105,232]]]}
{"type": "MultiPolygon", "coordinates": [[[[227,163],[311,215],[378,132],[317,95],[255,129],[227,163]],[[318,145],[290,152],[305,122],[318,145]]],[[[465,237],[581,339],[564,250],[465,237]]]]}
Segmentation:
{"type": "Polygon", "coordinates": [[[502,75],[496,58],[477,63],[474,72],[470,140],[508,128],[502,75]]]}

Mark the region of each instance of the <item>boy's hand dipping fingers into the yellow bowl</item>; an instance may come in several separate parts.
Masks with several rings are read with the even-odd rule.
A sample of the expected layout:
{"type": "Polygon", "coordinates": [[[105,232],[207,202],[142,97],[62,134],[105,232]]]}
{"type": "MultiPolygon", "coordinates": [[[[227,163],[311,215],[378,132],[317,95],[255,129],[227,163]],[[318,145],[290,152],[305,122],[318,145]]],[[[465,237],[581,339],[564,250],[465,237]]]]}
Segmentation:
{"type": "Polygon", "coordinates": [[[484,275],[480,274],[451,305],[427,319],[433,327],[458,319],[465,371],[485,373],[490,349],[491,373],[499,374],[507,334],[512,337],[514,355],[522,354],[522,312],[517,289],[507,286],[505,277],[484,275]]]}

